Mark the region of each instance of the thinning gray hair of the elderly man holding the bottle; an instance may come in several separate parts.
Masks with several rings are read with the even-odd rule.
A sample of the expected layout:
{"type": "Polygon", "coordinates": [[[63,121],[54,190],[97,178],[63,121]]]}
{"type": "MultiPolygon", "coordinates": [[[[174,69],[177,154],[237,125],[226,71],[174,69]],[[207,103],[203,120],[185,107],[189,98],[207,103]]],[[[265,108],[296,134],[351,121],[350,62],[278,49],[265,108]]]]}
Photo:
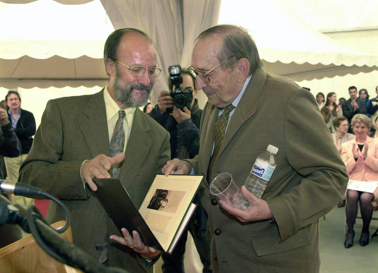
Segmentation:
{"type": "Polygon", "coordinates": [[[232,67],[235,60],[242,58],[246,58],[249,62],[249,74],[252,74],[256,69],[262,66],[256,43],[245,28],[237,25],[213,26],[198,35],[196,41],[211,37],[212,35],[220,35],[223,37],[223,46],[217,56],[220,63],[229,59],[227,62],[223,63],[223,69],[232,67]]]}

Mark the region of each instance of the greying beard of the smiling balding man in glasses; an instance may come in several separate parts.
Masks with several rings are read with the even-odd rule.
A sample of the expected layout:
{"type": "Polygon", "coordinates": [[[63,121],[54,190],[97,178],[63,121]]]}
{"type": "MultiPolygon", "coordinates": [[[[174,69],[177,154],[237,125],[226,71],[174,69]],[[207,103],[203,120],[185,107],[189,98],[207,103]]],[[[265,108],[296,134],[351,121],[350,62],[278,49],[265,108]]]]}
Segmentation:
{"type": "Polygon", "coordinates": [[[143,84],[130,84],[129,86],[121,85],[121,73],[116,69],[116,77],[113,85],[115,99],[122,102],[124,105],[129,107],[141,107],[147,104],[153,83],[149,86],[144,86],[143,84]],[[133,97],[133,90],[146,90],[146,93],[136,94],[136,98],[133,97]]]}

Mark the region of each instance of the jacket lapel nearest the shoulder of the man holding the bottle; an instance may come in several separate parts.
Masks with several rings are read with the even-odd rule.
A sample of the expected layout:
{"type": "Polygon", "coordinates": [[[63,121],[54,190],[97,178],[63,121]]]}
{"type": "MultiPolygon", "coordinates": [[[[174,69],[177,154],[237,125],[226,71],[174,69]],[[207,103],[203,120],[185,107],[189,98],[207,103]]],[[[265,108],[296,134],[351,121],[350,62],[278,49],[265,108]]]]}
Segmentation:
{"type": "MultiPolygon", "coordinates": [[[[266,72],[263,68],[259,68],[253,73],[253,76],[249,81],[239,104],[232,114],[225,137],[218,153],[218,157],[225,150],[228,143],[231,141],[232,137],[235,136],[243,123],[256,113],[257,102],[259,101],[260,95],[262,93],[265,79],[266,72]]],[[[214,136],[214,130],[212,131],[214,136]]]]}

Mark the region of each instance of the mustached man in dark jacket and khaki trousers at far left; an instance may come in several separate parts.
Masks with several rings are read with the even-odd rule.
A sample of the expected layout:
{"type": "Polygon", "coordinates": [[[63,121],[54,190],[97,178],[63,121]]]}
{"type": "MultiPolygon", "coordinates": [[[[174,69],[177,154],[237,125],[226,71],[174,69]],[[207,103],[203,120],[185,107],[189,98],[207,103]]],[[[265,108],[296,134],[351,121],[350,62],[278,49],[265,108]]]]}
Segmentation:
{"type": "MultiPolygon", "coordinates": [[[[33,143],[33,136],[36,133],[36,120],[33,113],[21,109],[21,97],[17,91],[8,91],[5,96],[6,104],[9,107],[8,120],[14,129],[18,139],[21,142],[21,154],[17,157],[5,157],[5,166],[7,179],[16,182],[19,178],[19,169],[21,163],[26,159],[31,144],[33,143]]],[[[23,196],[12,195],[13,202],[20,203],[28,207],[34,204],[34,199],[23,196]]]]}

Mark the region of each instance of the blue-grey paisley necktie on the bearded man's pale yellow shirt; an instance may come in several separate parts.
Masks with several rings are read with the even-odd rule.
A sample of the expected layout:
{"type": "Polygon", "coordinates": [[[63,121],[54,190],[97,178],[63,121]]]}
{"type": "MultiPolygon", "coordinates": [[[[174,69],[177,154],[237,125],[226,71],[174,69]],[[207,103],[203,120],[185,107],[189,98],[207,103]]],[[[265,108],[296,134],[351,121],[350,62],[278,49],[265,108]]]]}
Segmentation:
{"type": "MultiPolygon", "coordinates": [[[[118,114],[119,118],[116,122],[116,126],[114,127],[112,140],[110,140],[110,156],[116,156],[117,154],[121,153],[125,145],[125,131],[123,130],[123,119],[126,116],[126,113],[123,110],[119,110],[118,114]]],[[[113,178],[118,178],[119,172],[121,171],[121,163],[122,162],[112,166],[113,178]]]]}

